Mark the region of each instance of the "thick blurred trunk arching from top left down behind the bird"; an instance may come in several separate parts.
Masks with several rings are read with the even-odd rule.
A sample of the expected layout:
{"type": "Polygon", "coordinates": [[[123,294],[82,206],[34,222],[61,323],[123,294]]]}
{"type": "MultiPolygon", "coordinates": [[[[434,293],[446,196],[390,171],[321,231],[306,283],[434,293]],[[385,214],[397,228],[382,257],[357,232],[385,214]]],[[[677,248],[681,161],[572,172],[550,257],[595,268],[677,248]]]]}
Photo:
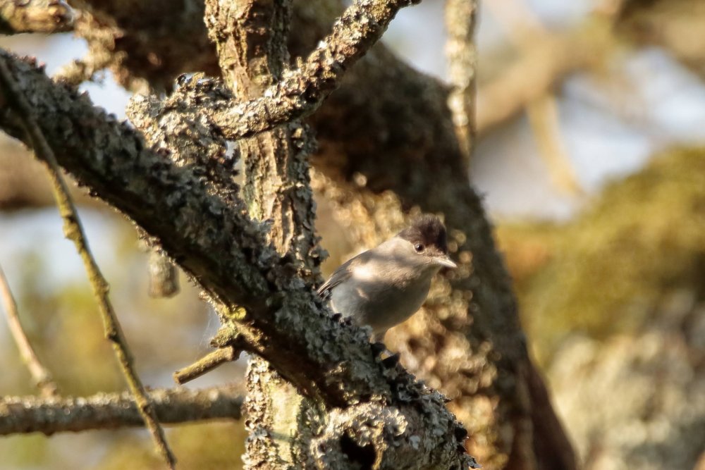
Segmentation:
{"type": "MultiPolygon", "coordinates": [[[[329,28],[326,18],[336,4],[298,4],[295,18],[307,19],[307,27],[295,27],[291,44],[302,48],[297,54],[305,55],[329,28]]],[[[201,36],[195,34],[190,44],[179,49],[183,57],[175,56],[174,63],[182,65],[150,68],[145,60],[149,54],[159,57],[166,35],[150,42],[152,32],[162,30],[149,28],[154,18],[148,20],[151,13],[147,11],[142,11],[145,19],[138,21],[140,14],[133,13],[131,2],[111,8],[102,6],[100,10],[115,22],[111,24],[121,25],[111,31],[140,37],[139,47],[136,43],[130,46],[127,39],[121,39],[122,49],[106,43],[107,49],[113,48],[110,54],[119,58],[119,80],[147,77],[155,87],[168,88],[175,70],[188,70],[182,65],[190,67],[188,58],[195,57],[190,51],[201,36]],[[140,29],[144,25],[145,30],[140,29]],[[136,35],[140,31],[146,34],[136,35]]],[[[178,8],[167,9],[165,23],[174,19],[172,13],[180,14],[178,8]]],[[[192,17],[179,18],[185,21],[192,17]]],[[[199,31],[204,37],[204,30],[199,31]]],[[[87,32],[85,35],[90,39],[87,32]]],[[[214,70],[214,49],[207,47],[197,56],[199,61],[207,58],[211,65],[202,68],[214,70]]],[[[353,240],[365,247],[403,225],[412,206],[446,213],[446,221],[458,237],[458,256],[465,259],[465,269],[454,281],[453,290],[441,290],[446,300],[431,299],[429,311],[433,315],[417,316],[409,323],[411,329],[402,336],[407,338],[407,346],[393,344],[413,353],[404,354],[413,371],[455,397],[454,409],[474,426],[470,445],[492,456],[494,466],[490,468],[507,462],[513,466],[527,462],[531,468],[537,464],[541,443],[553,452],[543,456],[549,462],[539,461],[538,468],[553,468],[551,462],[555,468],[571,468],[570,445],[526,357],[509,280],[494,249],[489,225],[477,195],[467,187],[467,168],[445,105],[447,97],[448,90],[439,82],[400,63],[384,47],[374,48],[348,71],[341,89],[312,116],[319,136],[314,164],[329,178],[326,194],[338,203],[341,214],[352,216],[353,240]],[[331,195],[334,192],[340,194],[331,195]],[[422,323],[414,328],[415,321],[422,323]],[[444,365],[451,359],[462,367],[444,365]]]]}

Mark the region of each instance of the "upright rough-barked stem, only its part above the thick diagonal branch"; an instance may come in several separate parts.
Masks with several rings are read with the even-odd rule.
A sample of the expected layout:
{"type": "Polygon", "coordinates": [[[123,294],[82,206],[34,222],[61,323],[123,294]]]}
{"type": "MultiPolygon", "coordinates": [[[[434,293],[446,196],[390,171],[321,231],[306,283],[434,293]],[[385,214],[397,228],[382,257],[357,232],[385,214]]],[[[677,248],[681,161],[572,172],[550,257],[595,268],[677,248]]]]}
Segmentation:
{"type": "MultiPolygon", "coordinates": [[[[259,97],[281,80],[288,63],[290,14],[290,1],[207,2],[209,35],[235,99],[259,97]]],[[[264,118],[266,112],[259,116],[264,118]]],[[[228,132],[233,126],[222,127],[228,132]]],[[[243,199],[250,216],[269,221],[269,239],[277,251],[293,257],[305,280],[315,280],[321,260],[309,188],[307,157],[312,147],[307,128],[293,121],[237,144],[245,171],[243,199]]]]}

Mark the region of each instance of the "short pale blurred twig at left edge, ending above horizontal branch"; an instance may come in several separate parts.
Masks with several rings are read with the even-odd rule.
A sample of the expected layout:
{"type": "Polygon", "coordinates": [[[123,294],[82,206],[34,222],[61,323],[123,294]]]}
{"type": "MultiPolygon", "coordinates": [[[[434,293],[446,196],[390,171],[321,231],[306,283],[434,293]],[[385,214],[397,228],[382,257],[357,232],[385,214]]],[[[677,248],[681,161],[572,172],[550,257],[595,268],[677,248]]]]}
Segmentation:
{"type": "Polygon", "coordinates": [[[17,302],[15,302],[15,297],[12,295],[10,285],[7,282],[7,278],[5,277],[5,273],[1,267],[0,297],[2,297],[10,333],[17,344],[17,349],[20,350],[22,360],[27,366],[27,369],[30,370],[30,374],[32,374],[32,379],[35,381],[37,388],[42,391],[42,395],[44,397],[55,396],[59,388],[56,386],[56,382],[54,382],[54,379],[51,377],[51,372],[49,372],[49,369],[44,367],[42,362],[39,361],[35,350],[30,344],[30,340],[27,338],[27,335],[25,335],[25,330],[22,328],[20,316],[17,311],[17,302]]]}

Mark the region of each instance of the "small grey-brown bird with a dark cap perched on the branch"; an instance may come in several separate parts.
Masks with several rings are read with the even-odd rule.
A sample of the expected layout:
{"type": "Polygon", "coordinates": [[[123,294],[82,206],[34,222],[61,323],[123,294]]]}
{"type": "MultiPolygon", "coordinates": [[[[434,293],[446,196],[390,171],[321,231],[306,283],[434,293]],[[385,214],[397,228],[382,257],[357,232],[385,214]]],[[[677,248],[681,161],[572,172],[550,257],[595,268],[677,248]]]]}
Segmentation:
{"type": "Polygon", "coordinates": [[[446,227],[434,215],[348,260],[319,287],[333,311],[372,327],[373,340],[421,308],[431,278],[441,268],[458,266],[448,257],[446,227]]]}

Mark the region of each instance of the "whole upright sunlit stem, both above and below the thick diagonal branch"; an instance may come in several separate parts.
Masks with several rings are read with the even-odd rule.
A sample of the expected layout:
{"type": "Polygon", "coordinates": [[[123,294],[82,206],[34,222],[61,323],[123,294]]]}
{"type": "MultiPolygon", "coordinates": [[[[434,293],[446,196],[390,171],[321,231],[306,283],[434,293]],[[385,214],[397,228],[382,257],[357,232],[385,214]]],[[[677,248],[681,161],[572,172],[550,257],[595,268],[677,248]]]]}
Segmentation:
{"type": "MultiPolygon", "coordinates": [[[[291,16],[290,1],[247,1],[239,4],[207,2],[207,25],[216,43],[219,63],[233,103],[262,97],[264,89],[276,87],[288,64],[286,37],[291,16]]],[[[293,94],[292,96],[297,96],[293,94]]],[[[300,95],[298,95],[300,96],[300,95]]],[[[284,97],[285,101],[286,97],[284,97]]],[[[255,109],[221,116],[249,118],[266,123],[271,116],[255,109]]],[[[250,125],[225,123],[226,130],[250,125]]],[[[243,157],[245,185],[243,199],[252,218],[268,221],[269,237],[281,255],[295,261],[295,273],[319,282],[321,254],[314,233],[315,207],[309,184],[308,157],[313,140],[307,126],[288,122],[269,132],[237,142],[243,157]]],[[[228,321],[227,319],[224,319],[228,321]]],[[[264,359],[253,357],[247,368],[245,402],[247,469],[312,468],[315,461],[307,450],[312,438],[311,423],[303,425],[302,414],[310,410],[309,421],[322,422],[314,412],[314,400],[303,397],[295,386],[264,359]],[[306,462],[305,465],[301,465],[306,462]]],[[[322,404],[318,405],[322,407],[322,404]]],[[[320,426],[320,424],[319,424],[320,426]]]]}

